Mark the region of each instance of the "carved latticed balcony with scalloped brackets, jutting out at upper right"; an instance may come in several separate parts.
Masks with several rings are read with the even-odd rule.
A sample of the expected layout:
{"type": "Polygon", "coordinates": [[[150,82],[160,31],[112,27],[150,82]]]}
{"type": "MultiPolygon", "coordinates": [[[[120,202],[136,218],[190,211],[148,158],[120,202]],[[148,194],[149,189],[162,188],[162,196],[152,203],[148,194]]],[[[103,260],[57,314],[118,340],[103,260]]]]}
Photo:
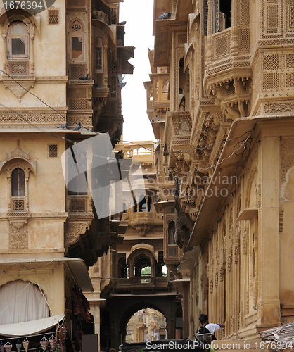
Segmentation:
{"type": "Polygon", "coordinates": [[[229,120],[250,115],[250,29],[233,33],[231,28],[208,37],[205,77],[207,94],[229,120]]]}

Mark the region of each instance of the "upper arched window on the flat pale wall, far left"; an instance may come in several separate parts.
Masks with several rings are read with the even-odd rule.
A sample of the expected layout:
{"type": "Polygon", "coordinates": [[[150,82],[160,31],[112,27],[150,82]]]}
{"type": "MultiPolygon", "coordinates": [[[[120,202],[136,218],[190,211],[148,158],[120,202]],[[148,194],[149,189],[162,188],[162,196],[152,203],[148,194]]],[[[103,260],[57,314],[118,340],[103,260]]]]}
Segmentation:
{"type": "Polygon", "coordinates": [[[28,58],[29,42],[29,32],[25,23],[20,21],[12,23],[7,34],[8,58],[28,58]]]}

